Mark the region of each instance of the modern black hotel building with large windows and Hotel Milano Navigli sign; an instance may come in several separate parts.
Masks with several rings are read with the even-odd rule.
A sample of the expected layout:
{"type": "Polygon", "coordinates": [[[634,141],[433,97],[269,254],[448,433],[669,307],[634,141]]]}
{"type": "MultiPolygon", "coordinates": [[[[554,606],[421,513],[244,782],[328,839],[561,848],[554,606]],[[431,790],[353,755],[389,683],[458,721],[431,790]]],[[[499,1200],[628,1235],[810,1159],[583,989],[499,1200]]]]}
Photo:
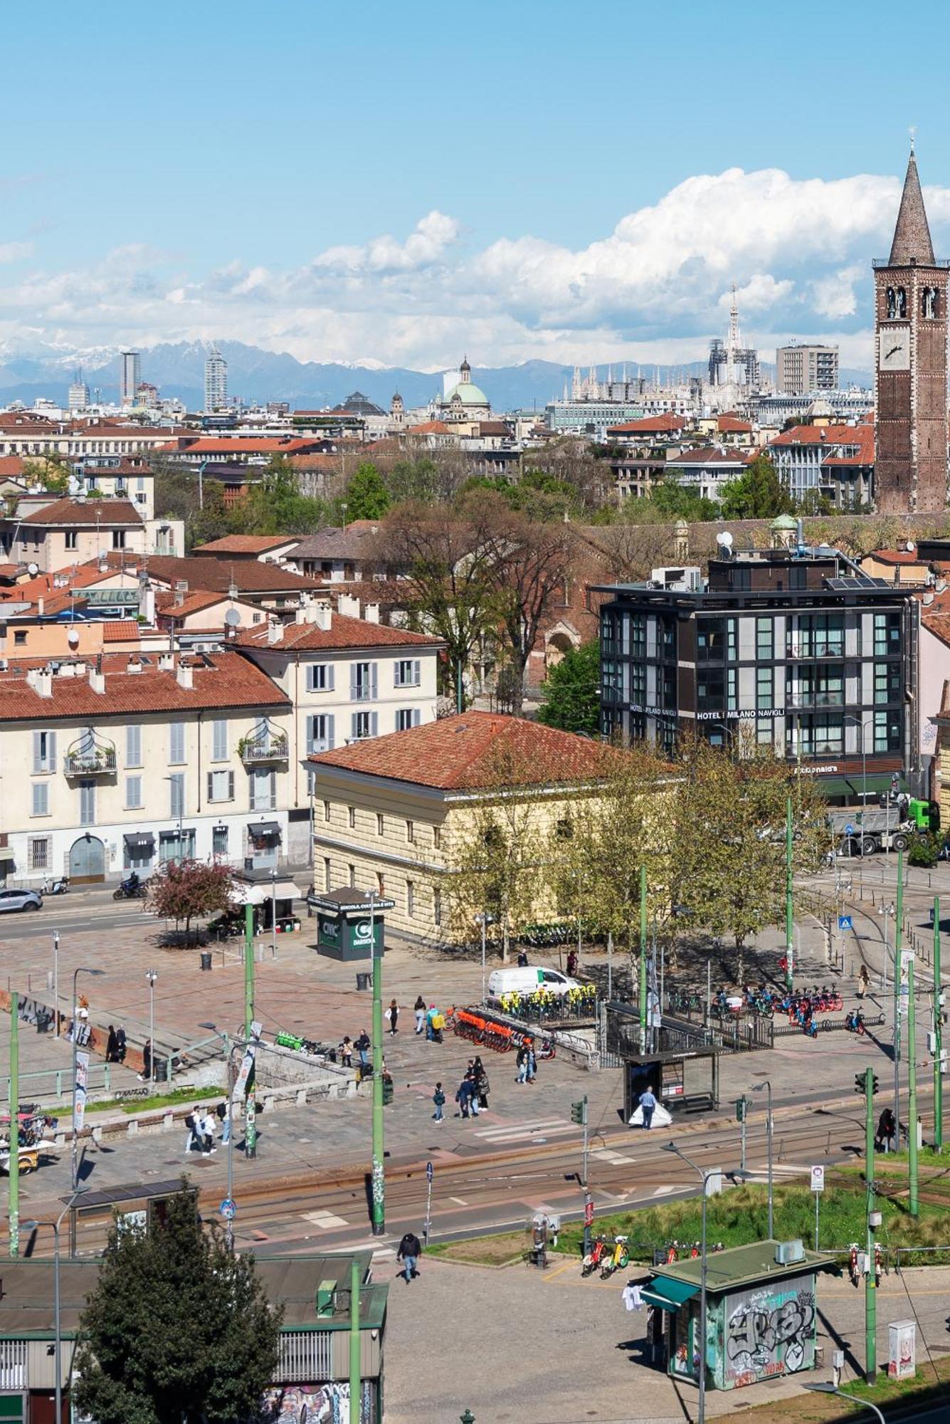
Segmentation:
{"type": "Polygon", "coordinates": [[[604,736],[673,750],[684,733],[748,735],[821,776],[831,802],[916,785],[919,605],[819,545],[732,553],[600,587],[604,736]]]}

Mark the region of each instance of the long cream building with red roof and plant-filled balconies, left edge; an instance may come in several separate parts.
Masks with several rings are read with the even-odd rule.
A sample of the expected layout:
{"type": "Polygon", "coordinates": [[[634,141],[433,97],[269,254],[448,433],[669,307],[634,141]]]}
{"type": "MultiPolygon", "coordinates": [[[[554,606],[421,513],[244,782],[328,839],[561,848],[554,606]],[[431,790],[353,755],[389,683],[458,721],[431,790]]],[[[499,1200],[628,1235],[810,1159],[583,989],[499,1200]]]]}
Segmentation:
{"type": "Polygon", "coordinates": [[[6,883],[145,876],[181,856],[276,866],[292,722],[286,693],[236,652],[0,671],[6,883]]]}

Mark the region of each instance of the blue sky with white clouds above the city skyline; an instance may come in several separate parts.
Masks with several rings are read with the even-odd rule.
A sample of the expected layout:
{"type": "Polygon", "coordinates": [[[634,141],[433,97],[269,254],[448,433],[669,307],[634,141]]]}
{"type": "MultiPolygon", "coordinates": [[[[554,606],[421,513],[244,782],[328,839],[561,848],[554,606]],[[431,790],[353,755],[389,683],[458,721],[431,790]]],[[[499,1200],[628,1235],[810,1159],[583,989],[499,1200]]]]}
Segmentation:
{"type": "Polygon", "coordinates": [[[749,339],[831,336],[865,365],[910,124],[950,249],[943,19],[926,0],[910,28],[877,0],[20,4],[0,343],[687,360],[735,279],[749,339]]]}

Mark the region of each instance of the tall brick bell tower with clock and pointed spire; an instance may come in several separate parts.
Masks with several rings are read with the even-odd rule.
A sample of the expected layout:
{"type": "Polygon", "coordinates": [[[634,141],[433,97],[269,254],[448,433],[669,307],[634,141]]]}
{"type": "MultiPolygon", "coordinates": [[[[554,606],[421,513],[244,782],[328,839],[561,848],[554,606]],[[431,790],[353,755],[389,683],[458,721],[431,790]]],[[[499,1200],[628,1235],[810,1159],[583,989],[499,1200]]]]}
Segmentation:
{"type": "Polygon", "coordinates": [[[875,262],[875,504],[947,503],[947,263],[933,255],[913,145],[887,262],[875,262]]]}

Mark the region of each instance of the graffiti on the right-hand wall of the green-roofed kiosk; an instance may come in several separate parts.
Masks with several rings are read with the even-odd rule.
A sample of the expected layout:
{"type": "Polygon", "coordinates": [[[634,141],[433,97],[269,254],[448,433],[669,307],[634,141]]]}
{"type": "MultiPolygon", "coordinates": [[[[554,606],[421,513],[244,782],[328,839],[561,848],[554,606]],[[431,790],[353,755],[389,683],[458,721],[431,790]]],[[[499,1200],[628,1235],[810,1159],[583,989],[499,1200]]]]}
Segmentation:
{"type": "Polygon", "coordinates": [[[815,1293],[754,1290],[730,1302],[725,1376],[752,1384],[772,1374],[811,1368],[815,1358],[815,1293]]]}

